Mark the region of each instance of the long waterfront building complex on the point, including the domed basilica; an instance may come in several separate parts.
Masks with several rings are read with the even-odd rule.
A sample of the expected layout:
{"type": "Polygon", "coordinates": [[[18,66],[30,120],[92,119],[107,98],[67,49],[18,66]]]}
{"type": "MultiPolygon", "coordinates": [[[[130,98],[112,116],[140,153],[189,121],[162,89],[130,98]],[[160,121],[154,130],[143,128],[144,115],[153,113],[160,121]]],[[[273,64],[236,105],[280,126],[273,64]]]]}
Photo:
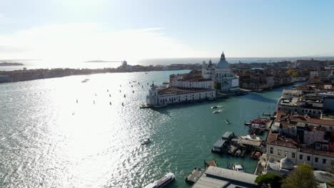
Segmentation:
{"type": "Polygon", "coordinates": [[[169,76],[169,83],[151,85],[146,96],[146,106],[160,108],[173,103],[191,103],[198,100],[214,100],[221,94],[243,95],[239,88],[239,78],[226,61],[224,53],[221,60],[213,64],[203,62],[202,71],[169,76]]]}

